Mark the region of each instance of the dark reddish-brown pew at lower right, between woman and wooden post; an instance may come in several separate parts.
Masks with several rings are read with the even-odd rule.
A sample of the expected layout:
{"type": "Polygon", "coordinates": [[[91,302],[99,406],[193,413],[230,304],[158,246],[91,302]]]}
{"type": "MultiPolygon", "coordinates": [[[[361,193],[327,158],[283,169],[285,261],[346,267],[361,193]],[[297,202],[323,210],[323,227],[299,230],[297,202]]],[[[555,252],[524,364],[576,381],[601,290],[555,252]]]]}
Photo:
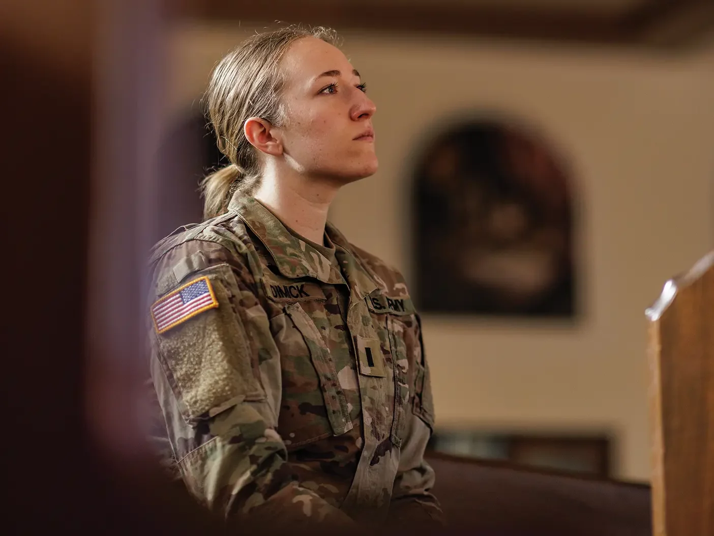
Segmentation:
{"type": "Polygon", "coordinates": [[[477,535],[650,536],[650,487],[429,453],[449,530],[477,535]]]}

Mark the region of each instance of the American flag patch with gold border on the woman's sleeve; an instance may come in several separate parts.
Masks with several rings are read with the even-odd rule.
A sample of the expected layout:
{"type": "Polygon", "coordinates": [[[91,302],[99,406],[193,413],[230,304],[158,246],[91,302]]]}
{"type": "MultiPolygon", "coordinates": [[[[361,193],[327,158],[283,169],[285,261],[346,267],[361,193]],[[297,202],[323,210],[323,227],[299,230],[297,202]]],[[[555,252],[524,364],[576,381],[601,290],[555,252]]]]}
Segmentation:
{"type": "Polygon", "coordinates": [[[196,314],[218,307],[216,294],[208,277],[199,277],[166,294],[151,306],[156,333],[164,333],[196,314]]]}

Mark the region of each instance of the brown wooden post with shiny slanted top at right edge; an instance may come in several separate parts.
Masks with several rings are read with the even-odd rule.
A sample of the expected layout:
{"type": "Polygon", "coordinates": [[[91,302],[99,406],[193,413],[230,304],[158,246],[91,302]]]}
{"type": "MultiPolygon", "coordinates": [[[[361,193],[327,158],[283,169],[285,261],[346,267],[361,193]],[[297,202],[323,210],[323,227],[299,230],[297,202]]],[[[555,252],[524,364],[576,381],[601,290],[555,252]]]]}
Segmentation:
{"type": "Polygon", "coordinates": [[[665,284],[650,319],[655,536],[714,534],[714,251],[665,284]]]}

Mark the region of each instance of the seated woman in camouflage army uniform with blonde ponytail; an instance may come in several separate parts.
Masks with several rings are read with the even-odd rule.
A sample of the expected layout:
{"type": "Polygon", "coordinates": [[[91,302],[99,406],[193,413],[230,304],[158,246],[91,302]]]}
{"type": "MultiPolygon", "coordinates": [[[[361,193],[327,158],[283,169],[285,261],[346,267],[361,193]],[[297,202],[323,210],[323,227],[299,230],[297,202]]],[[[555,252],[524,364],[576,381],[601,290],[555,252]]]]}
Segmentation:
{"type": "Polygon", "coordinates": [[[279,29],[216,66],[231,165],[203,183],[206,221],[154,248],[151,375],[181,477],[228,520],[438,526],[418,316],[327,222],[377,169],[375,106],[333,42],[279,29]]]}

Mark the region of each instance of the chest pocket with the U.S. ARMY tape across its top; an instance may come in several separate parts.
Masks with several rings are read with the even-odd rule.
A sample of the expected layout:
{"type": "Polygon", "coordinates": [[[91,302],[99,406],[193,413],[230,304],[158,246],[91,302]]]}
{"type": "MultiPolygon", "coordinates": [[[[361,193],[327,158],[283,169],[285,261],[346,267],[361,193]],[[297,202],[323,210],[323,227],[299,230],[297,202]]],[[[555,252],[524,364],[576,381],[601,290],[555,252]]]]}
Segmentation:
{"type": "Polygon", "coordinates": [[[414,306],[409,297],[388,297],[376,291],[365,298],[374,324],[383,330],[384,338],[388,339],[392,364],[394,369],[394,415],[390,437],[396,447],[401,447],[404,429],[406,427],[406,410],[409,397],[413,392],[413,382],[410,371],[414,367],[413,347],[416,322],[414,306]]]}

